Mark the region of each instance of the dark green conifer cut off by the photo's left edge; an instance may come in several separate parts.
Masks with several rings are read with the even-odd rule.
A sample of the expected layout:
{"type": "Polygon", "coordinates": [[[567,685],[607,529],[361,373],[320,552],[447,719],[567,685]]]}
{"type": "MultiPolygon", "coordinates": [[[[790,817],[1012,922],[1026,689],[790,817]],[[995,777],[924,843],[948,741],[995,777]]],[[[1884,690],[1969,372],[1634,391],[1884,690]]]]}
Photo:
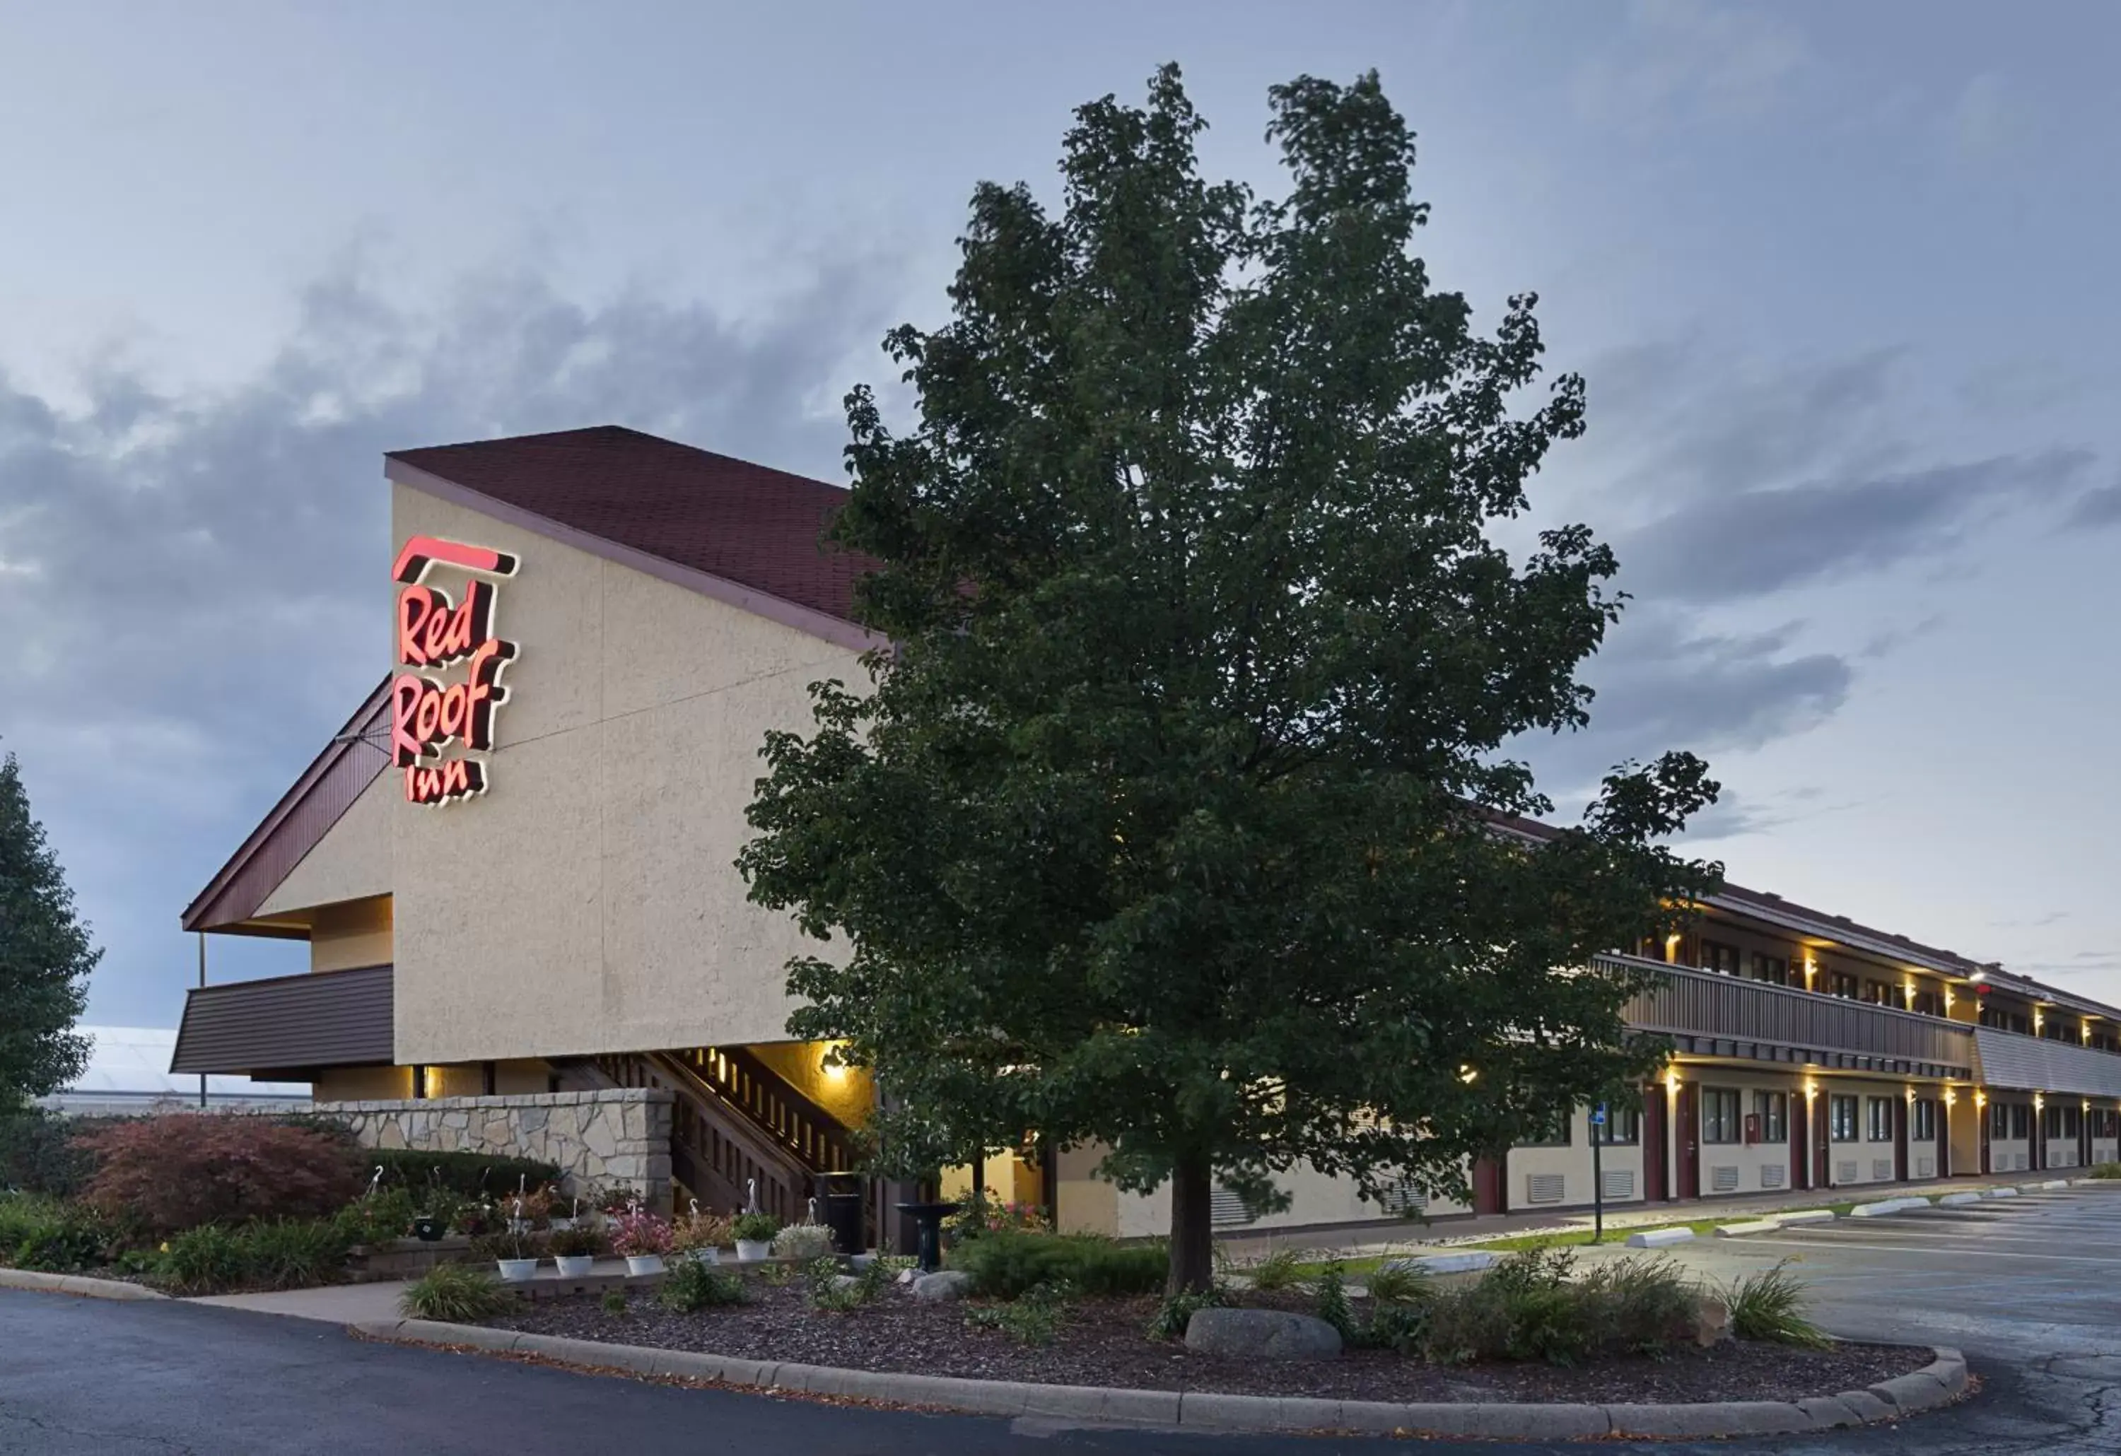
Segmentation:
{"type": "Polygon", "coordinates": [[[15,754],[0,759],[0,1113],[81,1075],[89,1043],[74,1022],[102,958],[74,920],[74,892],[45,827],[30,816],[15,754]]]}

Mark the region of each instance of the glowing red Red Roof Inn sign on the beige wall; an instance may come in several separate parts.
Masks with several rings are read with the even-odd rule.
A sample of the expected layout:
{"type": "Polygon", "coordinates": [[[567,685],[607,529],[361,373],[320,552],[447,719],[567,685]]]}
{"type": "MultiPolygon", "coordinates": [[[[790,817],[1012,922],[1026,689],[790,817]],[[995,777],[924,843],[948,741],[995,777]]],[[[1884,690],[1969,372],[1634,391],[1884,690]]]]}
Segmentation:
{"type": "Polygon", "coordinates": [[[481,754],[494,748],[494,708],[509,697],[501,670],[515,657],[515,644],[494,636],[494,583],[479,576],[513,574],[513,555],[435,536],[407,540],[390,568],[390,579],[403,583],[397,604],[401,672],[390,680],[390,765],[405,769],[407,803],[450,803],[486,791],[484,763],[443,750],[450,744],[481,754]],[[431,566],[471,574],[462,602],[426,585],[431,566]],[[428,676],[456,663],[464,663],[462,680],[428,676]]]}

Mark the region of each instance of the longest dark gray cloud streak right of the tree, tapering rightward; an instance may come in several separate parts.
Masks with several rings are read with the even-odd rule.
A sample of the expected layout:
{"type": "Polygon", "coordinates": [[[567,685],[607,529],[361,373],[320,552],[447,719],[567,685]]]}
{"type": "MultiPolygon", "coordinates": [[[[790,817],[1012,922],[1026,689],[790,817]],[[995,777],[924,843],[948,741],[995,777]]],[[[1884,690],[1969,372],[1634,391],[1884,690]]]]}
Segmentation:
{"type": "Polygon", "coordinates": [[[1627,534],[1616,549],[1625,583],[1644,596],[1756,598],[1953,545],[1981,515],[2045,502],[2091,462],[2083,449],[2051,449],[1905,475],[1712,492],[1627,534]]]}

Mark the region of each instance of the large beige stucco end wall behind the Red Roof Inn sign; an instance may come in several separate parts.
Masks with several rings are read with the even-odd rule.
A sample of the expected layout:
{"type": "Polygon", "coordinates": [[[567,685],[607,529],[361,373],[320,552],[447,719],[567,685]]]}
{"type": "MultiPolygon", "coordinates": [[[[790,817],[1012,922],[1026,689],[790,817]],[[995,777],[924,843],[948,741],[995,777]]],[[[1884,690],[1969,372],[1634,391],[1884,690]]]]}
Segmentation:
{"type": "Polygon", "coordinates": [[[812,680],[865,685],[857,655],[395,485],[411,534],[522,560],[494,612],[522,653],[490,788],[392,801],[399,1060],[785,1038],[783,964],[819,947],[732,860],[766,729],[808,725],[812,680]]]}

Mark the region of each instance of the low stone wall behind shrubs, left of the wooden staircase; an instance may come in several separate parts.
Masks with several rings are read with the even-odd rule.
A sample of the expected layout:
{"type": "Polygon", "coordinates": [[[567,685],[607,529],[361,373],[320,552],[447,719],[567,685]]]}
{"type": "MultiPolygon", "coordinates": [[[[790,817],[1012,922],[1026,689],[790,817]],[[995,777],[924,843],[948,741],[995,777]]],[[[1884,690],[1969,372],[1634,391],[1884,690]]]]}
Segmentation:
{"type": "Polygon", "coordinates": [[[626,1183],[649,1208],[670,1204],[670,1094],[653,1087],[318,1102],[312,1111],[352,1127],[363,1147],[534,1157],[560,1166],[564,1193],[626,1183]]]}

